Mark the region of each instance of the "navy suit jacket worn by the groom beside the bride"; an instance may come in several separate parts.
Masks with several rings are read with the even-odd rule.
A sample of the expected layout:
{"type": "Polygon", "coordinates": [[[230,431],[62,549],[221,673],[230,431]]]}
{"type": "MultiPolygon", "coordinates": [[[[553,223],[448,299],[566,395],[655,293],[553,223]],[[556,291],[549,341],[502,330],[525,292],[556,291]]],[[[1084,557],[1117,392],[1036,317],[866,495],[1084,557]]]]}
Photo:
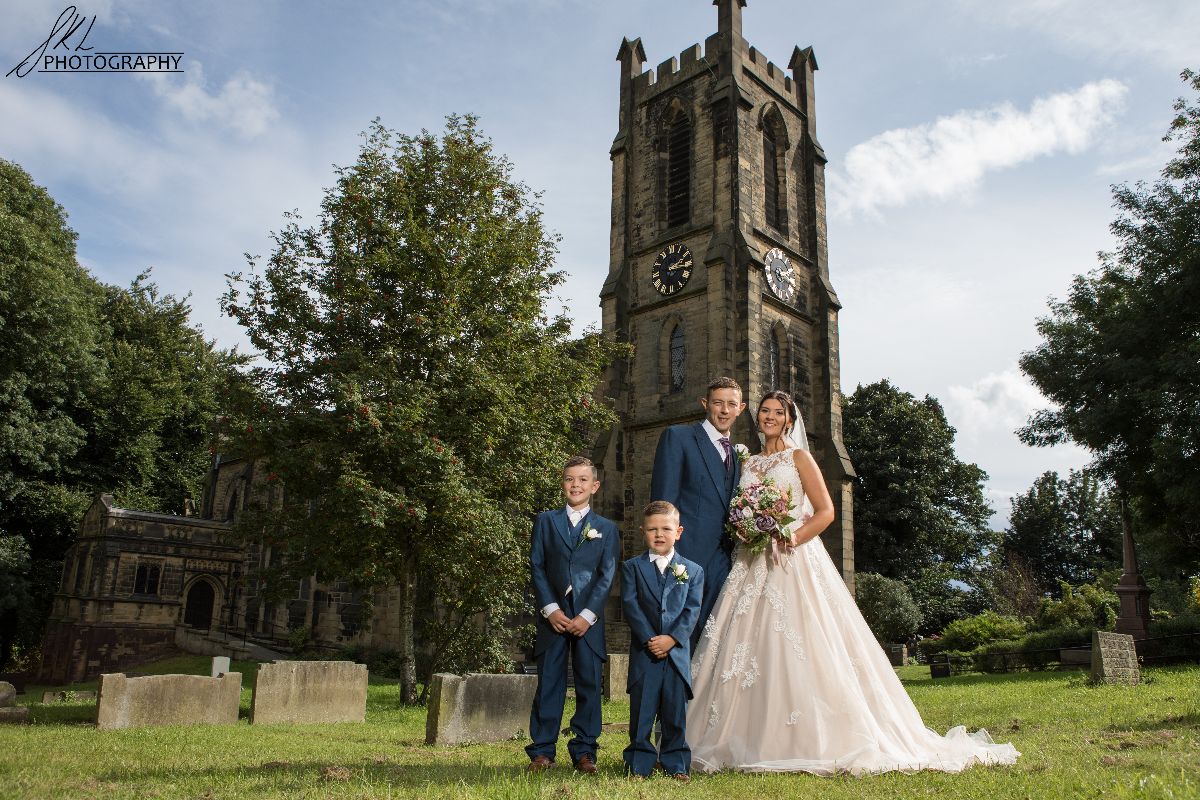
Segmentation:
{"type": "Polygon", "coordinates": [[[702,422],[672,425],[659,438],[650,500],[667,500],[679,510],[683,536],[676,549],[704,569],[719,551],[728,559],[733,549],[725,519],[740,475],[742,464],[734,452],[732,489],[727,489],[725,463],[702,422]]]}

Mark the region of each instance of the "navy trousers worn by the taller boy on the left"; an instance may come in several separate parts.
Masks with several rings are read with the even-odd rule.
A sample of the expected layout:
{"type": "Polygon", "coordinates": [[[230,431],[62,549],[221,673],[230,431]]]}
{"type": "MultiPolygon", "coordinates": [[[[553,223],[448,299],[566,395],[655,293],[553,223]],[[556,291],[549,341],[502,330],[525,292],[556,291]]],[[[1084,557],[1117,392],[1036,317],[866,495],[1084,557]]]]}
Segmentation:
{"type": "MultiPolygon", "coordinates": [[[[570,600],[570,597],[568,597],[570,600]]],[[[566,608],[568,616],[571,612],[566,608]]],[[[575,673],[575,716],[571,717],[571,740],[566,752],[571,763],[581,756],[596,757],[596,739],[600,736],[601,678],[604,661],[582,639],[570,633],[560,633],[538,656],[538,693],[529,711],[529,738],[526,746],[529,758],[545,756],[554,760],[558,732],[563,724],[563,706],[566,703],[566,660],[571,660],[575,673]]]]}

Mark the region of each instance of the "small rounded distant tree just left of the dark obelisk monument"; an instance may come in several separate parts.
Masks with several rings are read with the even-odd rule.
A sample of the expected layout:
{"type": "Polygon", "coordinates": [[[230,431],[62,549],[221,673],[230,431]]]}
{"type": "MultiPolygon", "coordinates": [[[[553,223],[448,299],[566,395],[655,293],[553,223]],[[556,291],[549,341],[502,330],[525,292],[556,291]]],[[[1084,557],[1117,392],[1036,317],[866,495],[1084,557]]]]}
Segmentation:
{"type": "Polygon", "coordinates": [[[1121,564],[1121,515],[1087,470],[1044,473],[1013,498],[1003,549],[1022,559],[1040,593],[1080,585],[1121,564]]]}

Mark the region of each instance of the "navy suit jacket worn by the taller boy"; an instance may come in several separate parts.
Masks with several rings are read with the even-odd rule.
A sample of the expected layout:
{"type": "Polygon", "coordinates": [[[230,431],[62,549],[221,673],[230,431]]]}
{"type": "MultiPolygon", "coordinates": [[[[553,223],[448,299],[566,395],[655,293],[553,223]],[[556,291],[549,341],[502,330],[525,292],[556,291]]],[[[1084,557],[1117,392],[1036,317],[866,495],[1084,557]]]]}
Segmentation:
{"type": "Polygon", "coordinates": [[[587,608],[596,615],[595,625],[583,634],[583,640],[601,660],[608,657],[604,643],[604,613],[608,603],[608,590],[612,589],[612,579],[617,573],[620,531],[614,522],[594,511],[588,512],[583,523],[584,527],[590,524],[600,534],[600,539],[580,543],[578,536],[571,535],[565,507],[542,511],[534,522],[533,547],[529,552],[533,591],[538,603],[534,654],[545,650],[554,637],[564,636],[556,633],[541,615],[542,608],[558,603],[568,616],[571,616],[569,608],[574,608],[576,614],[587,608]],[[571,588],[570,606],[566,599],[568,587],[571,588]]]}

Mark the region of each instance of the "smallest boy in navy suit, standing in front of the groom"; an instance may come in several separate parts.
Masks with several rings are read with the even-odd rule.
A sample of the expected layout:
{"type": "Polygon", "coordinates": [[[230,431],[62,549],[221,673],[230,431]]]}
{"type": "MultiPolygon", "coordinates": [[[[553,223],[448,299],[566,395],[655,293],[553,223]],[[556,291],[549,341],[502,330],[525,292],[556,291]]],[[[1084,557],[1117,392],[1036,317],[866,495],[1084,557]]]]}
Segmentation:
{"type": "Polygon", "coordinates": [[[646,777],[655,762],[679,781],[691,780],[691,748],[684,738],[691,699],[691,632],[700,618],[704,570],[676,552],[679,511],[654,500],[642,512],[647,553],[620,565],[620,600],[629,622],[629,747],[625,769],[646,777]],[[654,720],[662,726],[659,750],[650,742],[654,720]]]}

